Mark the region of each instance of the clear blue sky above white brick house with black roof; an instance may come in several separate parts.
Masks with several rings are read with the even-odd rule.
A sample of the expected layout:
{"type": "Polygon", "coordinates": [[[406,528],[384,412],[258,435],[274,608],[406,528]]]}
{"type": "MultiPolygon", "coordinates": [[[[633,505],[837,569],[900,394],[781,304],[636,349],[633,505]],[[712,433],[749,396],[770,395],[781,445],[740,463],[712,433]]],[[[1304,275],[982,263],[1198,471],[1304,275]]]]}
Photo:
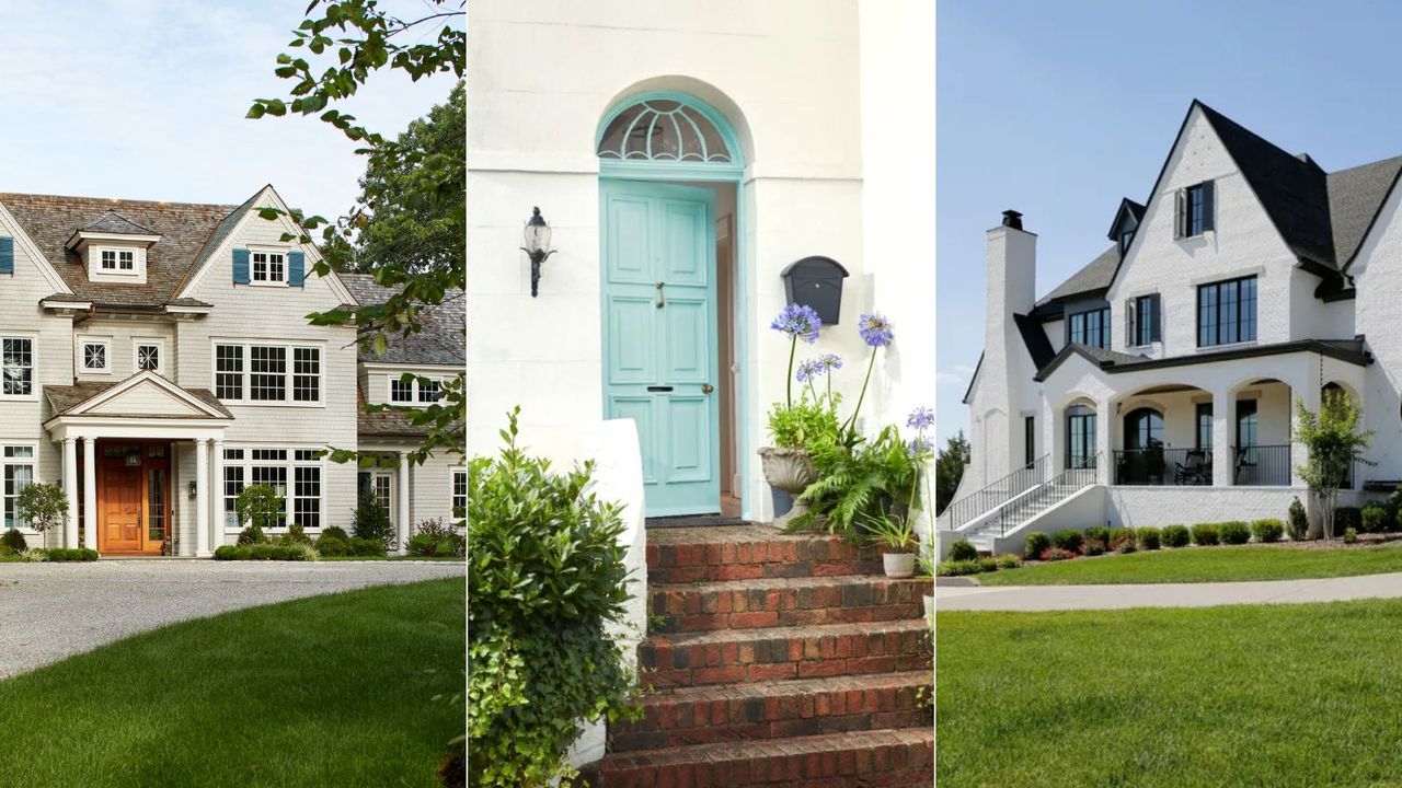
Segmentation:
{"type": "Polygon", "coordinates": [[[1402,4],[941,0],[941,442],[983,345],[984,231],[1004,209],[1037,234],[1037,294],[1109,245],[1200,98],[1325,170],[1402,154],[1391,87],[1402,4]]]}

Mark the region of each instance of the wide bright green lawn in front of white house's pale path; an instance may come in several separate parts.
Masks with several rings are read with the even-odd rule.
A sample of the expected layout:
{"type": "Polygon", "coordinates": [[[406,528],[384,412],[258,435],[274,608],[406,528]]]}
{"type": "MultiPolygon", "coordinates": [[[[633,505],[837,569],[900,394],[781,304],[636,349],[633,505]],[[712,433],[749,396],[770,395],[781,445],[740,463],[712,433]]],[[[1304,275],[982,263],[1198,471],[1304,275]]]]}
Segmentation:
{"type": "Polygon", "coordinates": [[[1402,600],[939,613],[938,785],[1402,784],[1402,600]]]}

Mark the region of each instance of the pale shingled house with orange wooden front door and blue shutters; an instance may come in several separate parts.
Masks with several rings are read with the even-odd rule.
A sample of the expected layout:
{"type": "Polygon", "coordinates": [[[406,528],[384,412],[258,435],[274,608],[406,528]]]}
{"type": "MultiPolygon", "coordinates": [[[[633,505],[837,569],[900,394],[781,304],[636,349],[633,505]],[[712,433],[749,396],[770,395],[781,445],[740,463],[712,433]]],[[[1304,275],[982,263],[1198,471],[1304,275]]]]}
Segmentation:
{"type": "MultiPolygon", "coordinates": [[[[174,538],[177,554],[209,555],[237,536],[233,501],[252,482],[280,487],[313,534],[349,526],[359,485],[384,491],[401,538],[412,517],[451,515],[456,482],[465,498],[446,458],[386,485],[318,456],[402,451],[414,436],[362,429],[359,402],[390,397],[360,393],[376,359],[362,365],[353,325],[306,317],[367,303],[373,285],[310,273],[315,247],[283,241],[290,220],[259,208],[286,205],[272,186],[240,206],[0,193],[3,523],[31,547],[160,554],[174,538]],[[41,536],[15,516],[31,481],[64,487],[63,529],[41,536]]],[[[460,369],[456,308],[458,331],[443,320],[437,345],[387,355],[416,373],[460,369]]]]}

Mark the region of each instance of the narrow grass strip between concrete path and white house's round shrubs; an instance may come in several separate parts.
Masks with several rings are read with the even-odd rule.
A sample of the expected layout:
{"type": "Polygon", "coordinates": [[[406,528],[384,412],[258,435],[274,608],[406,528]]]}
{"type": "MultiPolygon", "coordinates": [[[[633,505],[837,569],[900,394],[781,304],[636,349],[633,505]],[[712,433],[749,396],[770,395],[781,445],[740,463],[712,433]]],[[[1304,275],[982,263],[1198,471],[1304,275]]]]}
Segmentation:
{"type": "Polygon", "coordinates": [[[1402,547],[1186,547],[1053,561],[979,575],[986,586],[1295,580],[1402,572],[1402,547]]]}

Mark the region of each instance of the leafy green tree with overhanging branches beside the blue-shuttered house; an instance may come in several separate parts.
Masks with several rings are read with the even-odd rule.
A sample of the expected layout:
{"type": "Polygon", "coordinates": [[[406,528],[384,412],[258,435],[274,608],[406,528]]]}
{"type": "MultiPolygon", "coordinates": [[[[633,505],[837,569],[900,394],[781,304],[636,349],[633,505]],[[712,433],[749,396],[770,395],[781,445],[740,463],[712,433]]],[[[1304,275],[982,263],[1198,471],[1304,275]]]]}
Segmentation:
{"type": "MultiPolygon", "coordinates": [[[[301,233],[283,240],[311,243],[313,233],[320,229],[321,245],[328,254],[314,266],[317,275],[325,276],[334,265],[352,266],[373,272],[377,285],[394,290],[381,304],[308,315],[314,325],[353,321],[362,346],[374,352],[383,352],[393,337],[419,332],[421,315],[465,282],[465,233],[457,230],[456,245],[450,240],[454,222],[465,227],[465,219],[458,219],[464,212],[467,175],[463,135],[458,132],[458,146],[451,140],[454,126],[465,126],[461,80],[467,34],[454,25],[465,17],[465,3],[423,0],[422,6],[422,15],[400,18],[380,8],[377,0],[313,0],[308,17],[289,42],[296,52],[278,56],[275,73],[293,83],[289,98],[259,98],[248,111],[254,119],[289,112],[317,115],[363,144],[358,153],[367,157],[367,168],[358,203],[335,222],[292,212],[301,233]],[[387,139],[360,125],[353,115],[334,108],[383,69],[402,72],[415,81],[451,74],[454,90],[446,105],[435,108],[398,137],[387,139]]],[[[259,210],[264,219],[276,219],[279,213],[276,209],[259,210]]],[[[464,394],[458,374],[443,383],[436,404],[408,414],[411,423],[428,433],[409,453],[411,463],[422,463],[435,450],[465,453],[464,394]]],[[[335,461],[373,461],[350,449],[336,449],[329,456],[335,461]]]]}

